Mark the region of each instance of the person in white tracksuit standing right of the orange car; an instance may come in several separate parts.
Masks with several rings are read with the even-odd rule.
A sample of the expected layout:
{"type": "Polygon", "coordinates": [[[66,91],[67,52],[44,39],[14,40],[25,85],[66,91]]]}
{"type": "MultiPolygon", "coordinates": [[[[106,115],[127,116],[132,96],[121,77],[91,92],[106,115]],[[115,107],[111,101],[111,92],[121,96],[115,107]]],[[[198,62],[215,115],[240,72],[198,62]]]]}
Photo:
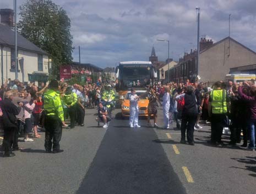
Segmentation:
{"type": "Polygon", "coordinates": [[[162,100],[162,110],[164,112],[164,128],[169,129],[169,109],[170,109],[170,88],[165,87],[165,94],[162,100]]]}

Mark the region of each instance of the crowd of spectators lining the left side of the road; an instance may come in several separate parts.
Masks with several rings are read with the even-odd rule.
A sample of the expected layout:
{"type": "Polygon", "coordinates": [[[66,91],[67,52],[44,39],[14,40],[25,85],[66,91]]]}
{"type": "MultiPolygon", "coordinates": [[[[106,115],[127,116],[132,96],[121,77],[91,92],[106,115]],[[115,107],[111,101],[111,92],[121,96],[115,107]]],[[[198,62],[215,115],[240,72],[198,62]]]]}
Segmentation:
{"type": "MultiPolygon", "coordinates": [[[[38,132],[44,131],[43,94],[46,92],[47,87],[48,85],[43,82],[39,85],[35,83],[23,84],[18,79],[14,81],[7,79],[2,85],[0,89],[0,130],[4,131],[3,143],[4,141],[9,141],[5,136],[13,136],[12,145],[9,146],[12,150],[21,149],[18,146],[18,138],[23,138],[25,142],[41,138],[38,132]],[[12,132],[12,134],[8,134],[9,132],[12,132]]],[[[79,118],[83,114],[80,114],[79,111],[82,110],[84,112],[84,109],[97,107],[105,85],[101,81],[86,83],[83,86],[79,84],[70,86],[65,82],[59,82],[59,94],[62,99],[64,118],[66,120],[70,116],[65,103],[68,87],[71,87],[72,92],[77,94],[75,122],[84,125],[84,118],[79,118]]],[[[1,149],[4,151],[7,148],[2,146],[1,149]]]]}

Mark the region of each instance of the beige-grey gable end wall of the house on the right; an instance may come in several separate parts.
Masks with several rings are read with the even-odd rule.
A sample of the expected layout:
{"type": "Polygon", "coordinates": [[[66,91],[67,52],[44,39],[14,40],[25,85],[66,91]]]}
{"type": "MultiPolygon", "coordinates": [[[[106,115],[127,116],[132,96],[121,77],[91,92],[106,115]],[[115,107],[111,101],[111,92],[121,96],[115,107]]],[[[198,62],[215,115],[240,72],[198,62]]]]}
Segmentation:
{"type": "Polygon", "coordinates": [[[256,54],[230,39],[230,55],[228,55],[228,39],[200,54],[200,81],[219,81],[225,78],[231,67],[256,64],[256,54]]]}

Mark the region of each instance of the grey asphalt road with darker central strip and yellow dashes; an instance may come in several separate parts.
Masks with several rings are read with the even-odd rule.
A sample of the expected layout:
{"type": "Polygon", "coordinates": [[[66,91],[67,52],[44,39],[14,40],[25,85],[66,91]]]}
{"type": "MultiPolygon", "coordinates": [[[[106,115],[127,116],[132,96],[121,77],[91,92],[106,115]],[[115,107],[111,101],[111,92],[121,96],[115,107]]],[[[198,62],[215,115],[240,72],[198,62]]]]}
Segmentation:
{"type": "Polygon", "coordinates": [[[108,129],[98,128],[95,112],[86,110],[84,127],[63,129],[62,153],[45,153],[41,138],[20,141],[23,151],[15,157],[0,157],[0,193],[255,192],[255,153],[210,146],[209,126],[194,133],[190,146],[178,143],[180,132],[173,127],[149,128],[144,119],[141,128],[128,128],[128,120],[119,117],[108,129]]]}

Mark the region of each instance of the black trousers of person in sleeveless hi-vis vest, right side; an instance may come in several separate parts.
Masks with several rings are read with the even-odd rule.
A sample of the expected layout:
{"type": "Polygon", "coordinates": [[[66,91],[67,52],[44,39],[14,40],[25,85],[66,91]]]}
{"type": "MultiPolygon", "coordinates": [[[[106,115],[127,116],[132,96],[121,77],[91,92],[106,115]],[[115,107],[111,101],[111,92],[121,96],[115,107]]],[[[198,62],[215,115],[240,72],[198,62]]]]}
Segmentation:
{"type": "Polygon", "coordinates": [[[222,130],[225,127],[226,114],[211,115],[211,142],[221,142],[222,130]]]}

